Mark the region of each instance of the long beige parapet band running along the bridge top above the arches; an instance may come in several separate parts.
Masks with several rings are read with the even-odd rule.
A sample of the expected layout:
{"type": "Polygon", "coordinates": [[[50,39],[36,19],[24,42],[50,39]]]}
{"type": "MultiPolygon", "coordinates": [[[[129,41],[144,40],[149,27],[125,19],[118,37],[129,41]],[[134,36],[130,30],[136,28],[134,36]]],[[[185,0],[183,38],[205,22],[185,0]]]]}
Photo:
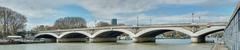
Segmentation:
{"type": "Polygon", "coordinates": [[[165,27],[181,27],[189,29],[193,26],[199,26],[200,30],[209,27],[226,26],[227,22],[208,22],[208,23],[175,23],[175,24],[153,24],[153,25],[142,25],[142,26],[107,26],[107,27],[90,27],[90,28],[79,28],[79,29],[59,29],[40,31],[41,32],[64,32],[64,31],[86,31],[86,30],[103,30],[103,29],[143,29],[143,28],[165,28],[165,27]],[[190,27],[190,28],[188,28],[190,27]]]}

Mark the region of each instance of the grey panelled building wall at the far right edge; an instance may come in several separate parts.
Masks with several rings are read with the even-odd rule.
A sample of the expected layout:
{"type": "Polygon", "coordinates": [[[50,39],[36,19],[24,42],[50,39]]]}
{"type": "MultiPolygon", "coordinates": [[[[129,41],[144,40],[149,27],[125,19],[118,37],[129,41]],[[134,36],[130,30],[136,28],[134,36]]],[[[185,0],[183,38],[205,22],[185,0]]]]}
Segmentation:
{"type": "Polygon", "coordinates": [[[229,50],[240,50],[240,4],[237,5],[224,30],[224,41],[229,50]]]}

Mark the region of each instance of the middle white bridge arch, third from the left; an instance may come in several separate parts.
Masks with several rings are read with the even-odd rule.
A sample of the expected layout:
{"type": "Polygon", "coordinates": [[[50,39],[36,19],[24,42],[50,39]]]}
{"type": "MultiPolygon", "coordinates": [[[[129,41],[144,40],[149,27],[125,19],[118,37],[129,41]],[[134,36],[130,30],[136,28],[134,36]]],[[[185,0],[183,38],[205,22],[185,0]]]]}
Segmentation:
{"type": "Polygon", "coordinates": [[[104,32],[110,32],[110,31],[122,32],[122,33],[125,33],[125,34],[129,35],[131,38],[134,37],[134,33],[133,32],[125,30],[125,29],[106,29],[106,30],[97,31],[96,33],[94,33],[92,35],[91,38],[95,38],[96,36],[98,36],[100,34],[103,34],[104,32]]]}

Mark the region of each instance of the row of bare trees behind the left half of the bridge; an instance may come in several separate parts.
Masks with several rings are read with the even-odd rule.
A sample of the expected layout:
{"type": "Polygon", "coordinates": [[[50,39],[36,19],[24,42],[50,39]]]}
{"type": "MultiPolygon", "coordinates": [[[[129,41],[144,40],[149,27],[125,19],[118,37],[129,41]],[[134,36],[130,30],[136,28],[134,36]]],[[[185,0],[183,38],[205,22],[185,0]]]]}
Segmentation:
{"type": "MultiPolygon", "coordinates": [[[[118,24],[118,26],[124,26],[125,24],[118,24]]],[[[107,27],[112,26],[108,22],[100,21],[96,23],[95,27],[107,27]]],[[[77,29],[77,28],[87,28],[87,22],[82,17],[63,17],[55,21],[53,26],[49,25],[39,25],[33,28],[37,31],[46,30],[57,30],[57,29],[77,29]]]]}

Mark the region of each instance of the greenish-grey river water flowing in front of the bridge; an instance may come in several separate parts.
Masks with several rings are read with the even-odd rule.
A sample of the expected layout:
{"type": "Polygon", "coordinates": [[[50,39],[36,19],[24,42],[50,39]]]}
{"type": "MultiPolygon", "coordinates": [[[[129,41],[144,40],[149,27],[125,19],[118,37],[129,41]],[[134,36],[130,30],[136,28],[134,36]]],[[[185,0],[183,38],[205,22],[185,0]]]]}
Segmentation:
{"type": "Polygon", "coordinates": [[[189,39],[157,40],[156,43],[42,43],[0,45],[0,50],[210,50],[211,43],[191,43],[189,39]]]}

